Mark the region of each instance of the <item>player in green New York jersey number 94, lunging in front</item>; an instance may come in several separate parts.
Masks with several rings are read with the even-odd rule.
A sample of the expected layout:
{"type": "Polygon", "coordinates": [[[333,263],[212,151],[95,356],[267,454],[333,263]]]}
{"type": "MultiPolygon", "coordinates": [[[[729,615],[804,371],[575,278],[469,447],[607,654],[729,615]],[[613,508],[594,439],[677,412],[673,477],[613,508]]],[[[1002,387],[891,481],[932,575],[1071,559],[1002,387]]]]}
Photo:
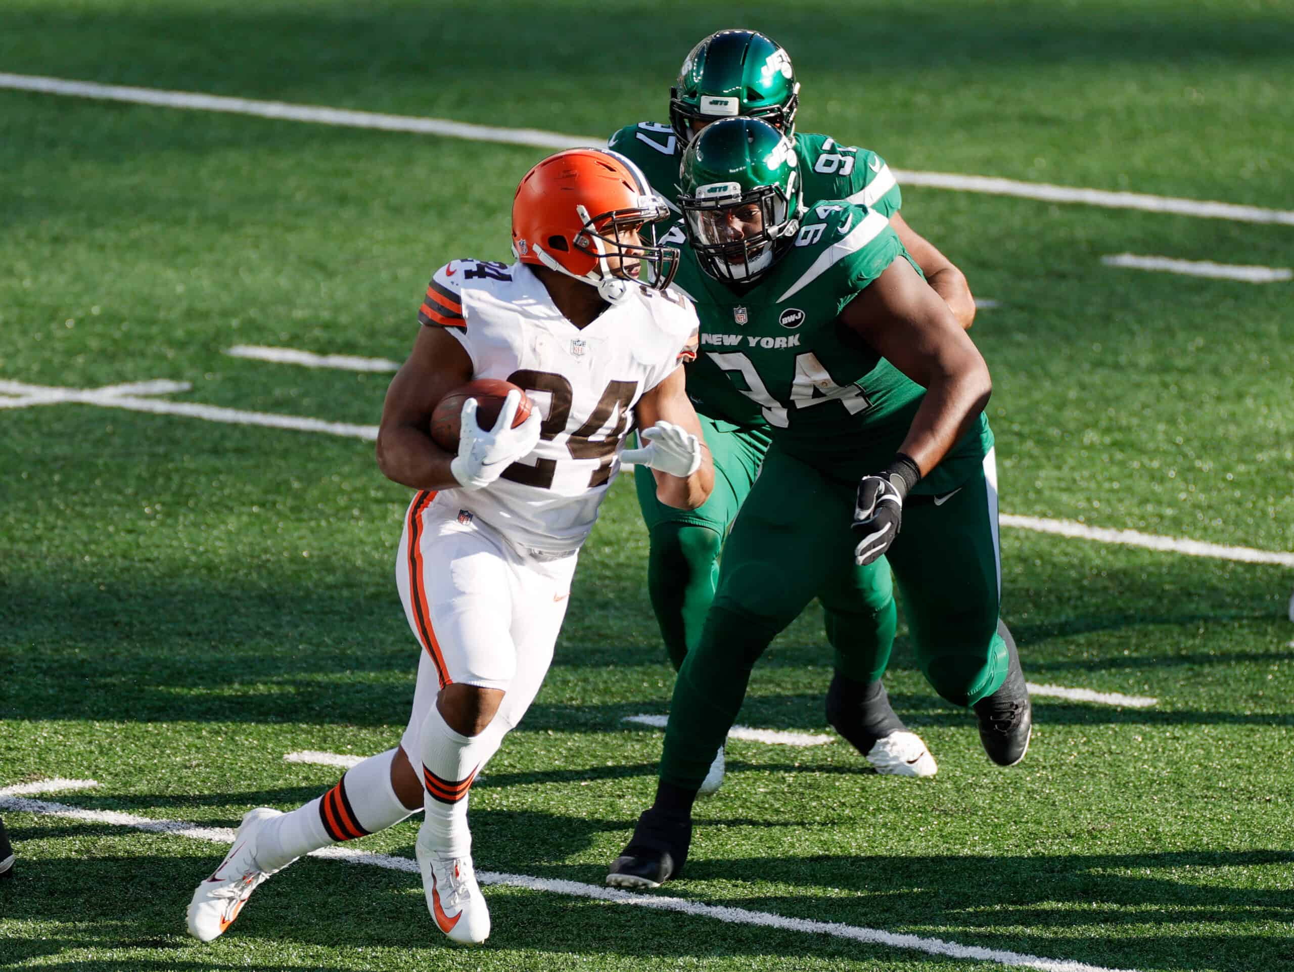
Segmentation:
{"type": "Polygon", "coordinates": [[[990,758],[1018,762],[1031,727],[1018,655],[999,634],[980,352],[883,212],[804,203],[795,145],[767,123],[708,126],[679,180],[674,286],[696,304],[701,365],[758,406],[771,445],[679,668],[656,801],[612,865],[617,887],[657,887],[683,867],[692,801],[751,668],[815,597],[859,625],[854,648],[888,656],[893,577],[917,665],[973,708],[990,758]]]}

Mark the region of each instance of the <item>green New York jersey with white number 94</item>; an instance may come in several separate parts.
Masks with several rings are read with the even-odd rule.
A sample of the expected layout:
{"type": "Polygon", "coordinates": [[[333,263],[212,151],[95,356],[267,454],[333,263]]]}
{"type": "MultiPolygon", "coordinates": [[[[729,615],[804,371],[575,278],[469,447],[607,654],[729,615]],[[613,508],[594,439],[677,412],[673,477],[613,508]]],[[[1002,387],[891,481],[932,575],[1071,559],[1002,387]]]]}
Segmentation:
{"type": "MultiPolygon", "coordinates": [[[[670,241],[674,242],[674,241],[670,241]]],[[[908,256],[886,216],[846,199],[810,206],[791,249],[758,281],[734,289],[707,274],[686,242],[673,286],[696,304],[700,355],[688,366],[707,393],[743,417],[758,410],[773,440],[824,475],[854,481],[886,467],[898,452],[925,390],[837,321],[840,311],[895,259],[908,256]]],[[[701,395],[700,410],[713,417],[701,395]]],[[[976,426],[916,485],[946,493],[964,483],[992,447],[981,414],[976,426]]]]}

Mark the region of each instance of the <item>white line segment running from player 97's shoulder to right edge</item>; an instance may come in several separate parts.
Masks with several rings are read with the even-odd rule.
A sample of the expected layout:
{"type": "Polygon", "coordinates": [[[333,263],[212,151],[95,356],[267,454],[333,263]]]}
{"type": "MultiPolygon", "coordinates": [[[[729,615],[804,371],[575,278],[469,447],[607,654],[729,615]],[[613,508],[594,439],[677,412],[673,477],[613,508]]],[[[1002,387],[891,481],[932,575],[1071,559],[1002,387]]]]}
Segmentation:
{"type": "Polygon", "coordinates": [[[1175,216],[1225,219],[1236,223],[1277,223],[1294,226],[1294,211],[1291,210],[1266,210],[1258,206],[1180,199],[1146,193],[1112,193],[1105,189],[1078,189],[1068,185],[1051,185],[1049,182],[1020,182],[1014,179],[991,176],[960,176],[952,172],[894,170],[894,175],[905,185],[924,185],[932,189],[955,189],[963,193],[1014,195],[1021,199],[1042,199],[1043,202],[1073,202],[1110,210],[1144,210],[1146,212],[1168,212],[1175,216]]]}

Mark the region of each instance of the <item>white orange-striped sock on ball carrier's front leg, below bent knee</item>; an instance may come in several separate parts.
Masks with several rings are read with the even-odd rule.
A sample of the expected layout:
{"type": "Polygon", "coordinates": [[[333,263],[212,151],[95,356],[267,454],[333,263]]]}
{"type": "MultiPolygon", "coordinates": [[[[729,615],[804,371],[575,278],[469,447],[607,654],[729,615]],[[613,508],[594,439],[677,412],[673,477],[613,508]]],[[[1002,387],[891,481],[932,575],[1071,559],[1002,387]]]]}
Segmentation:
{"type": "Polygon", "coordinates": [[[502,736],[493,725],[475,736],[455,733],[435,705],[418,736],[422,758],[422,834],[443,853],[466,857],[472,834],[467,828],[467,793],[481,765],[498,749],[502,736]]]}

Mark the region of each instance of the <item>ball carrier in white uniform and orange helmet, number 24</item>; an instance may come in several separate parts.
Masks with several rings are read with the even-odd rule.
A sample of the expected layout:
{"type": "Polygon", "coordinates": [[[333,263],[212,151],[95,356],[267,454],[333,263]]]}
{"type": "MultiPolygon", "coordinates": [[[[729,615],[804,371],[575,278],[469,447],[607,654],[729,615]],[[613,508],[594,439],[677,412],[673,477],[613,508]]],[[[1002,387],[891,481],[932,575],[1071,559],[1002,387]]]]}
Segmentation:
{"type": "Polygon", "coordinates": [[[696,353],[696,312],[666,289],[678,251],[639,237],[668,215],[624,157],[562,151],[516,190],[516,263],[453,260],[436,271],[378,434],[383,474],[418,491],[396,557],[421,646],[409,725],[397,747],[304,806],[248,812],[193,894],[190,934],[223,933],[251,892],[302,854],[418,809],[415,854],[436,925],[463,944],[489,934],[467,793],[540,690],[576,554],[621,458],[651,469],[672,506],[700,506],[713,485],[681,368],[696,353]],[[643,263],[651,283],[637,277],[643,263]],[[514,390],[483,430],[468,399],[457,453],[441,449],[430,436],[436,404],[477,378],[524,388],[529,417],[512,427],[514,390]],[[644,445],[621,453],[635,419],[644,445]]]}

